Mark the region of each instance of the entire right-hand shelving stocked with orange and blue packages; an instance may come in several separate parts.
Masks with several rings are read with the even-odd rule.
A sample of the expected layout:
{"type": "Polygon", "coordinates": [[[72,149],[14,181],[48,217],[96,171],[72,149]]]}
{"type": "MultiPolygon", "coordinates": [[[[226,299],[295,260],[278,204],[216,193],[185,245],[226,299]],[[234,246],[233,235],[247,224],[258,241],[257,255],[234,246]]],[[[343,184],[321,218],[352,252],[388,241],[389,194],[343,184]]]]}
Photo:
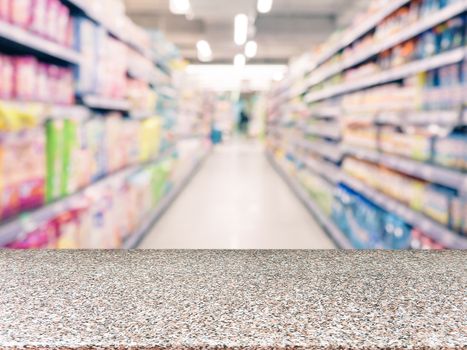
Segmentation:
{"type": "Polygon", "coordinates": [[[467,2],[366,18],[291,67],[269,148],[345,246],[467,248],[467,2]]]}

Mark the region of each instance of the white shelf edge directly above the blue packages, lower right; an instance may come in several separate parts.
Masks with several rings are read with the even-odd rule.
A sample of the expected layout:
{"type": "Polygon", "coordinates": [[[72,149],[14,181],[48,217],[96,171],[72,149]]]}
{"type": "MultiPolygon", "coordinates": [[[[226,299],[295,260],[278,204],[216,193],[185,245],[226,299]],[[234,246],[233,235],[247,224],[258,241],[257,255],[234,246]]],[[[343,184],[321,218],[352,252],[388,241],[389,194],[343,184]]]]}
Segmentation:
{"type": "Polygon", "coordinates": [[[447,227],[435,222],[434,220],[426,217],[422,213],[418,213],[413,209],[410,209],[406,205],[398,202],[395,199],[373,189],[363,183],[362,181],[350,176],[343,174],[342,181],[344,184],[350,186],[352,189],[361,193],[369,200],[374,202],[376,205],[385,209],[389,213],[394,213],[403,219],[407,224],[419,228],[429,235],[432,239],[438,243],[443,244],[448,248],[453,249],[467,249],[467,239],[461,235],[451,231],[447,227]]]}

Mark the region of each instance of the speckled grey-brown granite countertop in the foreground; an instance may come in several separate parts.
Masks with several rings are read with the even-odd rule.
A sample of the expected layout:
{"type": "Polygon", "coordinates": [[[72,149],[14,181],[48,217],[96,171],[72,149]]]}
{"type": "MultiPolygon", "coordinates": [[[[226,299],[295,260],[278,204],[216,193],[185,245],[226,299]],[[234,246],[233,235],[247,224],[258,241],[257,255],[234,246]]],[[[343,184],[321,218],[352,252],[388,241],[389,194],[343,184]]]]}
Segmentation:
{"type": "Polygon", "coordinates": [[[0,348],[467,349],[467,253],[0,252],[0,348]]]}

